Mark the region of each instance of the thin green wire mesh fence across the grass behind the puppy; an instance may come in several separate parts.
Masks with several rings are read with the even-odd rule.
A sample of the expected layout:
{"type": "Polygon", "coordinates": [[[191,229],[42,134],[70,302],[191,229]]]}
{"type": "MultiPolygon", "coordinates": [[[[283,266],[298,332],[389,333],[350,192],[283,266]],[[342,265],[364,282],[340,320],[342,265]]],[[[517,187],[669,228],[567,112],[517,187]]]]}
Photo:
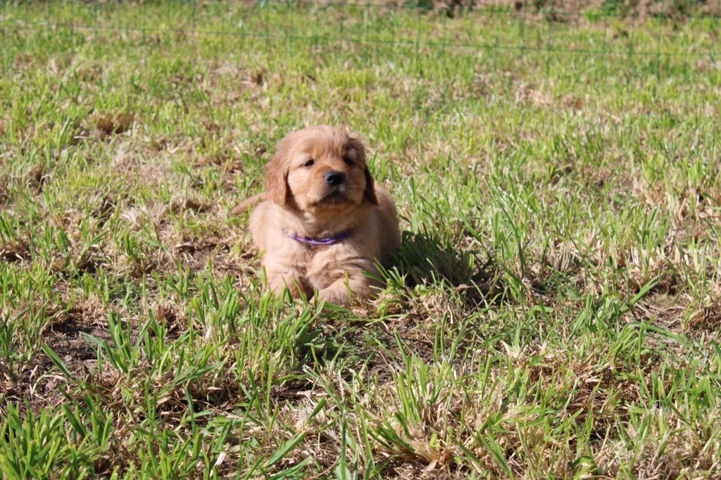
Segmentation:
{"type": "Polygon", "coordinates": [[[238,48],[329,51],[373,61],[448,55],[508,68],[555,68],[570,75],[618,76],[721,73],[721,0],[544,1],[482,3],[393,1],[1,1],[2,40],[28,35],[93,32],[137,43],[181,36],[227,37],[238,48]],[[689,32],[705,32],[689,35],[689,32]]]}

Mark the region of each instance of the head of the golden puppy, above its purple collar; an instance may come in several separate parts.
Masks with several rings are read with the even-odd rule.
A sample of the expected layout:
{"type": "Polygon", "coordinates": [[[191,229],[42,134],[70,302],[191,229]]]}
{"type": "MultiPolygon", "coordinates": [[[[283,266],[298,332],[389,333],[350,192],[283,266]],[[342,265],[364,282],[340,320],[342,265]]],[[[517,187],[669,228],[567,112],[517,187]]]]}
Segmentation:
{"type": "Polygon", "coordinates": [[[304,128],[278,144],[267,166],[265,191],[275,203],[307,213],[377,205],[366,150],[343,128],[304,128]]]}

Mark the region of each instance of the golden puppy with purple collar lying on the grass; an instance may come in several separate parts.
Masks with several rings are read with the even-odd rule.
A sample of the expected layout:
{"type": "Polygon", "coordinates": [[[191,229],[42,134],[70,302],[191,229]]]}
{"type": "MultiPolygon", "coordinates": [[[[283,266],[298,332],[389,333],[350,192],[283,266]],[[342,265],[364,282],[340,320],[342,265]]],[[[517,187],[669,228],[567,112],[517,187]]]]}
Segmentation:
{"type": "Polygon", "coordinates": [[[373,185],[363,143],[343,128],[321,125],[283,138],[267,165],[265,193],[231,214],[252,205],[253,242],[277,294],[288,287],[311,298],[317,290],[338,305],[371,298],[376,260],[387,265],[400,244],[395,205],[373,185]]]}

